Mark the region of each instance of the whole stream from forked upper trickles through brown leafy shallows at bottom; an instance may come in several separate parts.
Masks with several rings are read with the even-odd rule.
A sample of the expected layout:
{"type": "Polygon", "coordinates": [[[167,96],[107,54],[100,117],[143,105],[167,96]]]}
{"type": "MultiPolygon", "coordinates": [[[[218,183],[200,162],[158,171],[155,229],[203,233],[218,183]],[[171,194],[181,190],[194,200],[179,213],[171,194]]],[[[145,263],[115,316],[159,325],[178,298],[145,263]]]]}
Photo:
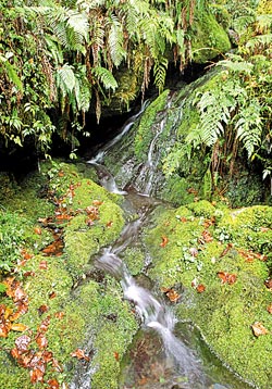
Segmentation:
{"type": "MultiPolygon", "coordinates": [[[[146,104],[147,105],[147,104],[146,104]]],[[[163,129],[163,120],[153,134],[148,160],[139,172],[144,181],[141,191],[119,188],[114,176],[104,166],[103,158],[111,152],[134,122],[144,112],[146,105],[134,115],[87,163],[91,164],[99,177],[99,184],[107,190],[124,197],[123,209],[126,214],[138,215],[126,224],[121,236],[112,247],[103,249],[95,259],[95,266],[115,277],[123,288],[124,299],[136,311],[140,328],[121,364],[120,389],[178,389],[178,388],[249,388],[232,374],[215,355],[211,353],[197,328],[190,323],[181,323],[174,314],[173,305],[156,296],[152,285],[145,275],[133,277],[123,260],[122,253],[140,240],[143,227],[148,223],[151,212],[163,202],[151,197],[156,180],[158,158],[153,152],[157,140],[163,129]],[[145,279],[143,281],[143,279],[145,279]]],[[[128,187],[129,188],[129,187],[128,187]]],[[[170,206],[170,204],[163,204],[170,206]]],[[[152,263],[147,253],[145,267],[152,263]]],[[[208,324],[207,324],[208,325],[208,324]]],[[[90,388],[91,369],[81,372],[72,384],[72,389],[90,388]]],[[[106,389],[106,388],[101,388],[106,389]]]]}

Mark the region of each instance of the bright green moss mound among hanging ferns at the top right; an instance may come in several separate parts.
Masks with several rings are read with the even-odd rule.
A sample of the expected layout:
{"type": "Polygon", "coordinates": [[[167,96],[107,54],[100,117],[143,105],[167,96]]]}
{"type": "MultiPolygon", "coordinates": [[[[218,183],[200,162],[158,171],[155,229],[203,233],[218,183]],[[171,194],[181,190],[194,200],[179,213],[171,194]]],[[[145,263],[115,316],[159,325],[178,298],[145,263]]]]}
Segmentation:
{"type": "Polygon", "coordinates": [[[206,63],[231,49],[226,32],[208,12],[196,15],[191,26],[193,61],[206,63]]]}

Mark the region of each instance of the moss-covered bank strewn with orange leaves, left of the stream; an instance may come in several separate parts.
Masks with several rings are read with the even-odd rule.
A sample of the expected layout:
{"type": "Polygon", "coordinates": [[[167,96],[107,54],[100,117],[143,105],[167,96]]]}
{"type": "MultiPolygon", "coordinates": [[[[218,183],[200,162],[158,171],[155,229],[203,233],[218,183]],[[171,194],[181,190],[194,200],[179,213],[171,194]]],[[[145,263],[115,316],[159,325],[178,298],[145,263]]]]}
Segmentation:
{"type": "Polygon", "coordinates": [[[120,284],[92,264],[124,215],[91,177],[84,164],[46,162],[1,197],[0,387],[69,386],[87,365],[91,387],[118,387],[138,324],[120,284]]]}

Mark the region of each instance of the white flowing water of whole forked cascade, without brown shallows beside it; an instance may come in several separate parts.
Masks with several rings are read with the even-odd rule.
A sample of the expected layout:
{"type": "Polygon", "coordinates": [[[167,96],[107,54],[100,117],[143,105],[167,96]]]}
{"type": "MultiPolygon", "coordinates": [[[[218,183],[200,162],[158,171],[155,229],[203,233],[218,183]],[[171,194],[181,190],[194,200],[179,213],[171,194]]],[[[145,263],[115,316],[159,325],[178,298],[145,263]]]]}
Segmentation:
{"type": "MultiPolygon", "coordinates": [[[[103,249],[103,251],[99,253],[94,261],[95,266],[112,275],[120,281],[124,299],[133,304],[143,330],[153,331],[157,334],[163,346],[163,354],[168,372],[173,372],[173,377],[176,377],[176,375],[178,377],[186,377],[186,380],[183,381],[181,386],[180,384],[176,384],[177,381],[172,379],[172,384],[174,384],[174,386],[172,386],[172,384],[171,386],[170,384],[166,386],[160,386],[159,384],[150,386],[149,384],[148,387],[143,386],[143,388],[232,388],[230,386],[218,384],[211,377],[209,372],[205,372],[197,353],[175,335],[177,319],[171,306],[157,298],[154,292],[148,290],[141,285],[138,285],[135,278],[129,274],[124,261],[122,260],[122,253],[125,252],[125,249],[134,247],[139,240],[138,238],[140,236],[141,227],[148,221],[150,210],[162,203],[162,201],[153,199],[151,193],[157,173],[156,167],[159,163],[159,156],[156,154],[154,150],[157,148],[157,141],[163,131],[165,123],[164,118],[157,123],[157,131],[153,134],[153,138],[150,142],[147,161],[137,177],[138,181],[144,183],[144,185],[136,186],[140,187],[143,189],[141,191],[137,191],[135,189],[120,189],[115,183],[114,176],[103,164],[103,159],[111,152],[112,147],[121,141],[121,139],[129,131],[135,120],[144,112],[147,103],[144,104],[140,111],[122,127],[115,138],[110,140],[92,159],[87,161],[87,163],[94,165],[96,168],[101,186],[111,192],[124,196],[124,211],[128,214],[138,215],[136,219],[134,218],[132,222],[126,224],[122,234],[111,247],[103,249]]],[[[148,265],[148,262],[150,261],[151,259],[147,253],[146,264],[148,265]]],[[[90,377],[95,372],[95,368],[96,367],[94,366],[89,366],[87,372],[77,372],[71,389],[91,388],[90,377]]],[[[125,388],[128,387],[126,385],[120,387],[120,389],[125,388]]],[[[129,386],[129,388],[136,388],[134,382],[132,384],[132,387],[129,386]]],[[[235,386],[235,388],[237,387],[235,386]]],[[[244,386],[242,385],[239,388],[244,388],[244,386]]]]}

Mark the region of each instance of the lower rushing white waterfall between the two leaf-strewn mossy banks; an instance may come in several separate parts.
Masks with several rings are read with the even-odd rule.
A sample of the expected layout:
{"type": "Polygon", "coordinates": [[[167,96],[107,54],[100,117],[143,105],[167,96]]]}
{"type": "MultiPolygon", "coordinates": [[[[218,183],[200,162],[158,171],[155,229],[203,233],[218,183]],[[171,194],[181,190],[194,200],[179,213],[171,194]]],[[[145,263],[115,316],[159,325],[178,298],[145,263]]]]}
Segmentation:
{"type": "Polygon", "coordinates": [[[160,302],[149,290],[138,286],[122,260],[110,249],[96,261],[96,266],[121,280],[124,298],[134,303],[143,326],[152,328],[161,337],[166,355],[173,360],[178,373],[187,377],[189,385],[194,382],[195,388],[205,388],[199,361],[173,334],[176,318],[170,308],[160,302]]]}

